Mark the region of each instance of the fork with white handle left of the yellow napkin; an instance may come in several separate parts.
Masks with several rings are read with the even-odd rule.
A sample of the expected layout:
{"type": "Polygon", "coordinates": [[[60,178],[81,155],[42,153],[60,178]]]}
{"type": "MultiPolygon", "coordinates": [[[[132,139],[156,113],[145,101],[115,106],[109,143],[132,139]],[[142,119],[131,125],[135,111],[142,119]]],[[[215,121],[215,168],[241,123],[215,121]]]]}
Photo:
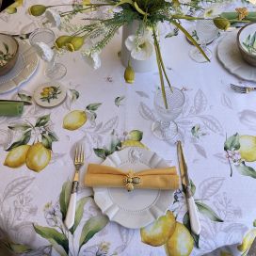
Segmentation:
{"type": "Polygon", "coordinates": [[[65,226],[70,230],[74,224],[76,194],[79,185],[79,170],[83,167],[85,162],[85,153],[82,145],[76,145],[74,152],[73,164],[75,167],[75,173],[72,181],[72,194],[69,201],[67,216],[65,218],[65,226]]]}

